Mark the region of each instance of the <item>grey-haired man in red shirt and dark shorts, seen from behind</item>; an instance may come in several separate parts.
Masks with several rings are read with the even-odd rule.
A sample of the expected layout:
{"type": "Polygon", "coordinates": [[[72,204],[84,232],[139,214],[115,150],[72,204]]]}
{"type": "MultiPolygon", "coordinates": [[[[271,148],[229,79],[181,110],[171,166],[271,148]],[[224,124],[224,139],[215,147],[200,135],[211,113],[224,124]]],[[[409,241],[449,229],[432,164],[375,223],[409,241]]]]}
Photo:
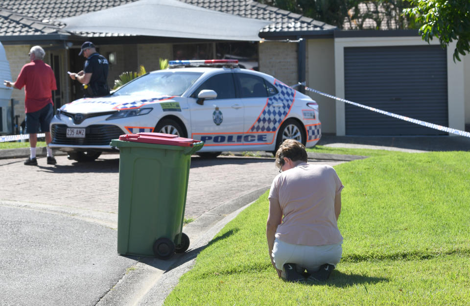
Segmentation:
{"type": "Polygon", "coordinates": [[[49,132],[49,123],[54,116],[52,91],[57,90],[54,72],[49,65],[43,62],[46,52],[40,46],[29,50],[30,63],[23,66],[16,82],[4,81],[7,87],[24,88],[24,112],[26,113],[26,133],[29,134],[30,156],[24,165],[38,165],[36,160],[36,143],[39,127],[46,134],[47,164],[55,165],[57,162],[52,155],[49,143],[52,141],[49,132]]]}

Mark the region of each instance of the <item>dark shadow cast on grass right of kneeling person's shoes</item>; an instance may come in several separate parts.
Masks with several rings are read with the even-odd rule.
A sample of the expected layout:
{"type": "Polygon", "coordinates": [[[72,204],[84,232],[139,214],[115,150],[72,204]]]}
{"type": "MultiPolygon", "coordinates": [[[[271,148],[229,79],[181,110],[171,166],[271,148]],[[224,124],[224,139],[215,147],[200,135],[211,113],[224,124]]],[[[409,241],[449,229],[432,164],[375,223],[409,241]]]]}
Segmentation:
{"type": "MultiPolygon", "coordinates": [[[[328,281],[326,282],[306,281],[306,282],[302,282],[302,284],[308,285],[308,286],[330,286],[330,287],[344,288],[344,287],[350,287],[353,285],[365,286],[367,284],[375,284],[378,282],[388,282],[388,281],[389,280],[386,278],[367,276],[365,274],[362,274],[362,275],[346,274],[338,270],[333,270],[333,272],[331,272],[331,275],[328,281]]],[[[367,290],[367,286],[366,286],[366,290],[367,290]]]]}

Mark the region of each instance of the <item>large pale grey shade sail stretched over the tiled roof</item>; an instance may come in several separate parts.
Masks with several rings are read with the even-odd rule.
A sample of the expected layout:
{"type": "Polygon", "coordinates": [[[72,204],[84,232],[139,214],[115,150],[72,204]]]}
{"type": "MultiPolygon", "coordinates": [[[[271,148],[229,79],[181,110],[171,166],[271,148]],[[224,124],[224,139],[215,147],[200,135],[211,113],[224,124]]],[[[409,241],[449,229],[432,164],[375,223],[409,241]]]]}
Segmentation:
{"type": "Polygon", "coordinates": [[[258,41],[259,29],[270,23],[178,0],[139,0],[60,21],[67,24],[64,30],[71,32],[115,31],[138,36],[230,41],[258,41]],[[129,16],[139,16],[139,22],[129,16]]]}

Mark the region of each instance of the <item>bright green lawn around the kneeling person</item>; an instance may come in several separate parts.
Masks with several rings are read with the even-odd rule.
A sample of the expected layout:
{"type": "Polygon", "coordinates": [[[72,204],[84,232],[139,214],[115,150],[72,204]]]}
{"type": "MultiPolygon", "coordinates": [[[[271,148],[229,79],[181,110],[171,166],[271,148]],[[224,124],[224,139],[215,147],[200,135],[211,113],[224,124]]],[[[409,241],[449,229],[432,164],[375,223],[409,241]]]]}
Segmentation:
{"type": "Polygon", "coordinates": [[[469,161],[469,152],[388,152],[335,166],[343,259],[325,283],[278,279],[265,193],[214,237],[164,305],[470,305],[469,161]]]}

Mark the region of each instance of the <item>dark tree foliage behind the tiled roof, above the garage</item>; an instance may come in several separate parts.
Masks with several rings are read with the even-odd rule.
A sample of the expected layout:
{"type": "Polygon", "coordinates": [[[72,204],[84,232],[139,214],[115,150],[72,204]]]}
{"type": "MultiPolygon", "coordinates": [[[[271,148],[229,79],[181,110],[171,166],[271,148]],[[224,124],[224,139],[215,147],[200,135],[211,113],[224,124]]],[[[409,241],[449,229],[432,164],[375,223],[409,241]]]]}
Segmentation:
{"type": "Polygon", "coordinates": [[[340,29],[414,28],[414,19],[401,14],[408,0],[258,0],[302,14],[340,29]]]}

